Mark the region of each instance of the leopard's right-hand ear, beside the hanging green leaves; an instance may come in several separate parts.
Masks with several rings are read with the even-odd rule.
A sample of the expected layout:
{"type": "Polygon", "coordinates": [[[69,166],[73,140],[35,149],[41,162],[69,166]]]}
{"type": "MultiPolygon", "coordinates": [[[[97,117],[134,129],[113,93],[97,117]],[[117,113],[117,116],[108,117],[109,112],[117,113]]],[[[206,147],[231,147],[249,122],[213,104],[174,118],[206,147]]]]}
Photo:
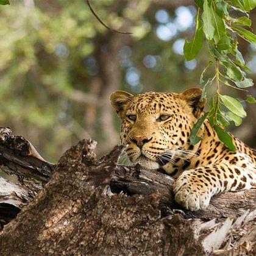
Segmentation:
{"type": "Polygon", "coordinates": [[[206,104],[206,98],[204,98],[202,102],[200,101],[201,95],[201,88],[190,88],[180,93],[180,96],[193,108],[193,114],[196,118],[199,118],[206,104]]]}

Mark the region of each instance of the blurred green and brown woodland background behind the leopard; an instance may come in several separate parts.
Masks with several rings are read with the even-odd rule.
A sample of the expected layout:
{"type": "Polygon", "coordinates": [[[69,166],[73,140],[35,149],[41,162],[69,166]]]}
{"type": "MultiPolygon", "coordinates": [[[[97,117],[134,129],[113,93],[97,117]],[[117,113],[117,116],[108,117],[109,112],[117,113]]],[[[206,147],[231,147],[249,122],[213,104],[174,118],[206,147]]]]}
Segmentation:
{"type": "MultiPolygon", "coordinates": [[[[194,1],[90,2],[108,26],[132,35],[105,29],[85,0],[10,0],[0,6],[0,124],[51,162],[83,138],[98,141],[99,155],[118,143],[119,120],[108,101],[113,91],[198,87],[210,58],[206,46],[190,62],[183,57],[185,38],[194,33],[194,1]]],[[[255,10],[251,18],[256,29],[255,10]]],[[[239,49],[256,82],[256,49],[243,40],[239,49]]],[[[255,96],[255,87],[247,94],[255,96]]],[[[255,106],[244,107],[244,123],[229,130],[255,147],[255,106]]]]}

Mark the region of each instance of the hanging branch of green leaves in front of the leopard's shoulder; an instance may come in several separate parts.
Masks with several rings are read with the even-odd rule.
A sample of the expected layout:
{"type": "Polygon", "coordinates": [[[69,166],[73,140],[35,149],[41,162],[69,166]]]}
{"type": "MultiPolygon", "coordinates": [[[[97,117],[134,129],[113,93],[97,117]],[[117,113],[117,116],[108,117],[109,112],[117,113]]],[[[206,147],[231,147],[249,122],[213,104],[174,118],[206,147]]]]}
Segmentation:
{"type": "MultiPolygon", "coordinates": [[[[196,16],[196,31],[191,41],[185,41],[184,55],[186,60],[194,59],[202,49],[204,40],[212,59],[204,69],[200,78],[203,89],[201,101],[204,99],[207,89],[215,80],[216,93],[210,99],[210,111],[199,118],[191,132],[191,143],[198,143],[197,137],[201,124],[206,118],[216,130],[219,139],[231,150],[236,148],[230,134],[224,129],[230,124],[240,126],[242,118],[246,117],[243,105],[238,99],[228,95],[222,95],[220,85],[244,90],[252,87],[252,79],[246,77],[245,71],[250,71],[246,66],[243,55],[238,49],[238,38],[241,37],[256,46],[256,35],[251,32],[251,20],[249,11],[256,6],[256,0],[195,0],[198,10],[196,16]],[[231,15],[237,13],[238,16],[231,15]],[[215,76],[204,80],[205,71],[215,63],[215,76]]],[[[248,95],[245,100],[255,103],[255,99],[248,95]]]]}

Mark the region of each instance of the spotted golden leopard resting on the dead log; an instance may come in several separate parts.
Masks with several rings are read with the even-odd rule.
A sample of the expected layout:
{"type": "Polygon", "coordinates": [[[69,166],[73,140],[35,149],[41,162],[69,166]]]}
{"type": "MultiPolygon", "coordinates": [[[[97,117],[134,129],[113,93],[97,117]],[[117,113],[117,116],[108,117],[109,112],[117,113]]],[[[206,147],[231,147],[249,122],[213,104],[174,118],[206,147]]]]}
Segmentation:
{"type": "Polygon", "coordinates": [[[130,162],[174,177],[175,200],[190,211],[204,210],[224,191],[256,188],[256,151],[231,133],[236,151],[219,140],[206,118],[197,133],[202,140],[191,143],[191,130],[204,115],[207,100],[201,98],[201,88],[110,95],[130,162]]]}

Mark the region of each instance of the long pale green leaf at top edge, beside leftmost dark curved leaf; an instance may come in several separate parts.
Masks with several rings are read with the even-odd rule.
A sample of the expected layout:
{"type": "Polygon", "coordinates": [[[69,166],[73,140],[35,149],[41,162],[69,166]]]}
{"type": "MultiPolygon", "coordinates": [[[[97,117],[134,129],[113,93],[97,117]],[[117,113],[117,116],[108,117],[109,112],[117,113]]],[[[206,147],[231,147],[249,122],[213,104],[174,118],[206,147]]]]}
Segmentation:
{"type": "Polygon", "coordinates": [[[204,1],[204,12],[202,13],[202,21],[204,23],[204,34],[208,40],[212,40],[215,34],[213,26],[212,3],[208,5],[208,1],[204,1]]]}

